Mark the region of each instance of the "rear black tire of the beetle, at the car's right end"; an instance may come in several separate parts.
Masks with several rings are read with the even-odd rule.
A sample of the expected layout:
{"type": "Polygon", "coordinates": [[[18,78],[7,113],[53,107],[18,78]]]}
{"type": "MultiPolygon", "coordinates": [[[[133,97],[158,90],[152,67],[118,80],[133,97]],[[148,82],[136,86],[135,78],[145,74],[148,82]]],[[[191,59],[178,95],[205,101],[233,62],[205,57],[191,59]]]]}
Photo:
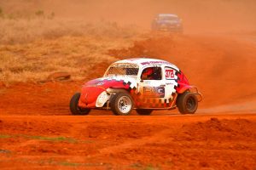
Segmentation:
{"type": "Polygon", "coordinates": [[[195,94],[187,91],[183,94],[178,94],[176,105],[181,114],[194,114],[197,110],[198,100],[195,94]]]}

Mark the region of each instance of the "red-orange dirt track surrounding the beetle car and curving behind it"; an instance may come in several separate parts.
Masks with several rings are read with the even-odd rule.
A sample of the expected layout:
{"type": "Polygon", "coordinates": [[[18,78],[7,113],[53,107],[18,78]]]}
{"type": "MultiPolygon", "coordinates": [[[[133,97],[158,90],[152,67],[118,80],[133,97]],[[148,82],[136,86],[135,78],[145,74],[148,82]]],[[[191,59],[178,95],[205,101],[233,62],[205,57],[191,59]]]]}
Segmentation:
{"type": "MultiPolygon", "coordinates": [[[[204,94],[193,116],[177,111],[68,116],[69,99],[83,82],[3,86],[0,167],[255,169],[253,36],[165,35],[109,51],[120,59],[142,54],[167,59],[182,68],[204,94]]],[[[103,67],[96,71],[103,73],[103,67]]]]}

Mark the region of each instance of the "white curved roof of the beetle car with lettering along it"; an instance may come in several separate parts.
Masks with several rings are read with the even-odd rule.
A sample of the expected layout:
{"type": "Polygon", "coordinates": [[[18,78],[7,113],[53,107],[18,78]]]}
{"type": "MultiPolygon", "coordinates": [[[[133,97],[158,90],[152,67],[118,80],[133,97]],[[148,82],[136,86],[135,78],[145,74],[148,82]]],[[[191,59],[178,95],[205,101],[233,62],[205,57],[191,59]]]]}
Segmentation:
{"type": "Polygon", "coordinates": [[[176,65],[173,65],[172,63],[162,59],[132,58],[132,59],[119,60],[114,62],[113,64],[119,64],[119,63],[136,64],[136,65],[139,65],[139,67],[144,67],[147,65],[166,65],[179,71],[176,65]]]}

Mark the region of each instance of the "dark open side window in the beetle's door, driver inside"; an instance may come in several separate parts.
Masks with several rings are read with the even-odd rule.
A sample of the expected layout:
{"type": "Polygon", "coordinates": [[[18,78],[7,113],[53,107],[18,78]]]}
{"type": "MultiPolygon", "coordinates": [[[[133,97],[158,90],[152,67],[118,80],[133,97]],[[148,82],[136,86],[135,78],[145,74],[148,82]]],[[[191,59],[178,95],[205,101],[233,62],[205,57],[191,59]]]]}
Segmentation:
{"type": "Polygon", "coordinates": [[[162,71],[160,67],[153,66],[148,67],[143,70],[142,80],[161,80],[162,79],[162,71]]]}

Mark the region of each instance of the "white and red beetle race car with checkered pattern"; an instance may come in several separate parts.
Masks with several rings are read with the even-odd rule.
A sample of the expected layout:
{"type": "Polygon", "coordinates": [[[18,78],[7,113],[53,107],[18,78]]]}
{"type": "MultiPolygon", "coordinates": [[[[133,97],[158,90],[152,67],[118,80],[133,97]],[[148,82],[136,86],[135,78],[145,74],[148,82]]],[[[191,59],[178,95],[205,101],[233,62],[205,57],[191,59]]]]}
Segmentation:
{"type": "Polygon", "coordinates": [[[87,115],[91,109],[106,109],[125,116],[132,109],[149,115],[177,107],[182,114],[193,114],[201,99],[176,65],[160,59],[124,59],[110,65],[102,78],[86,82],[70,100],[70,111],[87,115]]]}

